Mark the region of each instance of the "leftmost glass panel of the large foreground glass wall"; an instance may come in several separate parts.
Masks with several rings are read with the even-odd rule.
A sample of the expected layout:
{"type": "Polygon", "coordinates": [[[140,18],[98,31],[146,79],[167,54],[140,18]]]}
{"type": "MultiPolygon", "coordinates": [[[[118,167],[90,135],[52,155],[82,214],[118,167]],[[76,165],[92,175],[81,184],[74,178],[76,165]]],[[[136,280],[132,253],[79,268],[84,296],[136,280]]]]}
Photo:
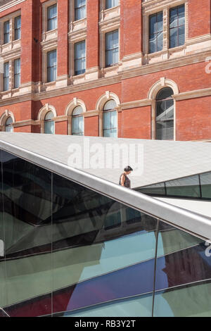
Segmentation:
{"type": "Polygon", "coordinates": [[[0,258],[0,277],[3,268],[6,296],[1,295],[1,308],[13,317],[50,314],[51,173],[5,151],[2,158],[6,261],[0,258]]]}

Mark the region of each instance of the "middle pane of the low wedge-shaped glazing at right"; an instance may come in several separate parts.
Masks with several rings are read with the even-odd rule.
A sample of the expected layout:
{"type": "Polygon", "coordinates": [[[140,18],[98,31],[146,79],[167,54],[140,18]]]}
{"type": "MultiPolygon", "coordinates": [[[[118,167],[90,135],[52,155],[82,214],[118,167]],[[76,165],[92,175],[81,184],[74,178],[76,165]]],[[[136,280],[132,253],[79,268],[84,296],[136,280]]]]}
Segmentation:
{"type": "Polygon", "coordinates": [[[166,182],[167,195],[200,197],[198,175],[166,182]]]}

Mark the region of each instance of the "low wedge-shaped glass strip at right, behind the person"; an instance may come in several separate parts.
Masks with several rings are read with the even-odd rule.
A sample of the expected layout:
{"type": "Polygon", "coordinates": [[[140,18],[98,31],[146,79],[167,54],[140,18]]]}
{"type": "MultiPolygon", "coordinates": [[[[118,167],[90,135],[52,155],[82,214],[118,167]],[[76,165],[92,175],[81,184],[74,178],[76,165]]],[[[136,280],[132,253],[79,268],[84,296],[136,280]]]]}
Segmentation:
{"type": "Polygon", "coordinates": [[[211,200],[211,172],[139,187],[136,190],[153,196],[211,200]]]}

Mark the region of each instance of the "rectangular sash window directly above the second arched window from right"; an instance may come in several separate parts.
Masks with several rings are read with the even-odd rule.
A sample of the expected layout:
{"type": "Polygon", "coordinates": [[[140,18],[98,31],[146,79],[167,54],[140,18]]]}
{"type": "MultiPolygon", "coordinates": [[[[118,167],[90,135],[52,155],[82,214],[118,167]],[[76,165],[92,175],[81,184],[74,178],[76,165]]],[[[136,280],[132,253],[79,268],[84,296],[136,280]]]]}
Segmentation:
{"type": "Polygon", "coordinates": [[[119,62],[119,30],[106,33],[106,67],[119,62]]]}

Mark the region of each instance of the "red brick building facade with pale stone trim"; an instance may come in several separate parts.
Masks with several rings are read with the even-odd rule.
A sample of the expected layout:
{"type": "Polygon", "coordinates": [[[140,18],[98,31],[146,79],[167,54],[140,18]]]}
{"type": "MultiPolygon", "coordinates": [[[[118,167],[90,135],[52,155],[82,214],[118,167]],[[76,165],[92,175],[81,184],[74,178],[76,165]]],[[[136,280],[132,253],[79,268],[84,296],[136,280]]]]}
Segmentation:
{"type": "Polygon", "coordinates": [[[210,140],[211,1],[120,0],[106,8],[106,0],[87,0],[86,15],[78,20],[76,2],[0,1],[1,64],[8,63],[7,89],[6,74],[1,74],[0,130],[12,118],[14,132],[44,132],[46,113],[52,111],[55,133],[71,135],[72,112],[81,106],[84,135],[102,136],[103,107],[113,99],[117,137],[156,139],[156,98],[169,87],[173,139],[210,140]],[[48,8],[55,4],[57,25],[49,30],[48,8]],[[179,6],[184,6],[184,43],[171,47],[172,8],[179,6]],[[151,52],[149,25],[157,13],[162,15],[162,49],[151,52]],[[14,37],[17,17],[19,39],[14,37]],[[119,36],[118,61],[107,66],[106,34],[113,31],[119,36]],[[81,41],[86,43],[85,71],[75,75],[75,44],[81,41]],[[56,79],[49,82],[47,62],[53,50],[56,79]],[[18,58],[20,85],[15,87],[18,58]]]}

